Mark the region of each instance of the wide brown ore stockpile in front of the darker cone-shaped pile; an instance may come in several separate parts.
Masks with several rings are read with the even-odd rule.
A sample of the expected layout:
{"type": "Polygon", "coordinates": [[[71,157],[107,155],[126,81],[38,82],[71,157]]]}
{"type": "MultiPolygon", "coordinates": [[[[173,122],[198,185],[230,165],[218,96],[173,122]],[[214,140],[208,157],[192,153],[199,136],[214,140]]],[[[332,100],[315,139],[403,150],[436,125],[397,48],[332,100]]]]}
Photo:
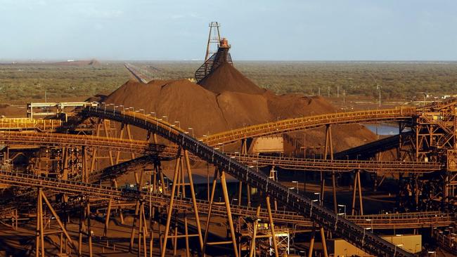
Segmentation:
{"type": "MultiPolygon", "coordinates": [[[[169,123],[179,121],[176,126],[183,129],[192,127],[196,137],[276,121],[278,118],[335,112],[335,108],[321,97],[275,95],[269,91],[263,94],[232,91],[217,94],[187,79],[156,80],[148,84],[128,81],[108,95],[105,102],[143,109],[146,113],[155,112],[157,117],[166,116],[169,123]]],[[[307,145],[324,142],[323,129],[307,133],[307,145]]],[[[143,133],[134,131],[134,134],[136,138],[144,139],[143,133]]],[[[297,136],[294,134],[293,138],[300,138],[300,133],[297,136]]],[[[335,151],[375,139],[373,133],[358,124],[335,126],[333,135],[338,138],[334,140],[335,151]]]]}

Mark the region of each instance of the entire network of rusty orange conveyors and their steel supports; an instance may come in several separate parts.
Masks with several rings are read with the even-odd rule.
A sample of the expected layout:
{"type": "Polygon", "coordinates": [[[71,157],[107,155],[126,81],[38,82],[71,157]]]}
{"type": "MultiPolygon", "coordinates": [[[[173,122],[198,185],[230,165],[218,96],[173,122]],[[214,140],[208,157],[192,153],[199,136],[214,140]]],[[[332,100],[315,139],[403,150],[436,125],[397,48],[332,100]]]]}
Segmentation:
{"type": "MultiPolygon", "coordinates": [[[[58,123],[60,121],[56,121],[56,126],[49,126],[49,124],[53,124],[53,121],[49,124],[46,124],[47,121],[34,120],[18,120],[15,121],[15,124],[12,121],[1,121],[0,125],[4,132],[0,133],[0,142],[11,145],[11,149],[8,150],[10,152],[7,153],[8,158],[18,156],[18,154],[15,154],[14,145],[45,147],[51,154],[56,152],[56,155],[50,156],[48,153],[49,157],[46,157],[47,159],[37,157],[37,162],[46,162],[48,166],[42,168],[40,165],[40,169],[34,169],[35,171],[39,170],[34,175],[1,171],[0,183],[20,187],[42,188],[43,190],[39,191],[39,195],[41,195],[39,199],[44,199],[46,195],[48,197],[49,195],[55,196],[56,192],[58,195],[65,196],[62,198],[64,201],[68,197],[85,195],[82,198],[82,205],[84,207],[82,213],[84,213],[84,216],[81,218],[81,224],[85,222],[89,227],[91,216],[90,199],[103,199],[104,202],[100,203],[101,206],[108,204],[108,207],[105,207],[106,220],[108,220],[105,224],[105,231],[108,231],[111,209],[119,208],[120,206],[121,208],[128,208],[127,206],[133,204],[135,206],[135,215],[132,225],[130,249],[134,251],[134,237],[137,237],[137,248],[135,251],[138,251],[141,255],[146,256],[146,253],[152,254],[153,251],[153,237],[150,235],[153,230],[146,225],[152,221],[146,217],[146,213],[157,211],[164,213],[165,210],[167,210],[165,211],[167,213],[167,222],[165,224],[165,232],[162,232],[162,236],[165,235],[165,239],[161,241],[162,246],[166,246],[168,238],[173,244],[173,251],[176,252],[176,242],[178,239],[184,238],[188,242],[189,238],[195,236],[203,240],[203,232],[211,229],[206,228],[203,230],[201,227],[197,229],[197,232],[200,231],[201,233],[190,234],[188,232],[188,229],[190,229],[188,219],[182,217],[193,217],[193,223],[195,225],[195,218],[199,220],[198,217],[200,214],[207,216],[217,215],[228,218],[228,223],[231,225],[231,235],[228,237],[228,242],[233,247],[233,254],[236,255],[242,251],[242,244],[240,242],[241,239],[236,239],[235,235],[241,232],[238,228],[235,230],[236,226],[233,223],[236,223],[236,221],[234,221],[235,219],[233,217],[258,217],[259,220],[270,224],[270,237],[271,235],[276,235],[273,229],[276,223],[290,225],[292,229],[300,226],[302,230],[306,231],[311,231],[311,228],[317,225],[318,228],[323,228],[321,230],[322,235],[324,235],[324,230],[331,231],[333,236],[343,237],[352,244],[360,246],[366,251],[375,253],[378,256],[392,256],[392,254],[395,256],[411,256],[411,254],[401,249],[395,249],[396,247],[380,239],[380,237],[360,228],[371,227],[375,230],[417,229],[444,227],[455,223],[456,217],[453,211],[420,211],[387,215],[340,216],[337,213],[336,205],[338,202],[335,192],[336,174],[340,172],[354,172],[351,210],[353,212],[356,210],[355,202],[358,197],[359,214],[361,214],[363,213],[361,171],[370,171],[380,175],[388,173],[397,174],[401,181],[406,181],[405,185],[408,185],[408,188],[412,192],[412,196],[408,199],[413,199],[415,207],[420,209],[419,207],[422,204],[420,197],[424,195],[424,188],[427,186],[427,183],[434,183],[433,180],[438,177],[442,178],[444,183],[440,183],[439,187],[436,187],[435,191],[428,195],[430,196],[430,200],[438,200],[440,204],[453,204],[457,184],[456,158],[454,157],[456,156],[454,131],[457,121],[455,119],[455,104],[452,102],[430,105],[424,108],[401,107],[390,110],[344,112],[287,119],[217,133],[199,139],[192,138],[188,135],[187,131],[167,124],[165,121],[154,119],[139,112],[115,110],[112,109],[114,106],[111,109],[109,107],[107,109],[106,106],[94,107],[93,104],[88,106],[90,107],[78,110],[78,112],[83,117],[82,120],[87,117],[96,118],[96,122],[94,123],[95,128],[92,129],[92,132],[90,129],[84,130],[84,133],[89,133],[90,135],[76,135],[73,131],[75,129],[77,130],[77,127],[72,128],[70,125],[65,124],[63,124],[63,127],[70,129],[71,132],[68,134],[56,133],[56,131],[59,131],[58,123]],[[108,121],[108,119],[111,121],[108,121]],[[120,125],[112,126],[110,124],[112,121],[119,122],[120,125]],[[332,125],[379,121],[399,122],[399,131],[403,131],[405,128],[411,131],[398,136],[399,142],[397,147],[399,150],[396,160],[382,160],[379,152],[375,152],[375,154],[369,152],[366,152],[364,155],[360,154],[360,158],[357,160],[335,159],[337,154],[333,154],[332,125]],[[129,126],[138,126],[146,129],[148,131],[148,140],[133,140],[129,126]],[[254,156],[245,154],[245,151],[241,151],[243,154],[222,153],[214,149],[221,144],[231,144],[239,141],[242,142],[243,147],[247,138],[302,131],[320,126],[326,126],[327,128],[324,159],[254,156]],[[122,128],[120,135],[113,132],[115,127],[122,128]],[[13,132],[18,130],[20,132],[13,132]],[[47,131],[48,133],[37,131],[47,131]],[[124,138],[125,136],[127,138],[124,138]],[[172,141],[174,146],[157,144],[157,136],[172,141]],[[78,150],[70,153],[72,149],[78,150]],[[136,155],[139,155],[139,157],[136,155]],[[103,156],[105,156],[104,159],[108,162],[108,167],[99,169],[96,163],[103,160],[103,156]],[[172,178],[173,186],[169,188],[165,186],[160,162],[172,159],[175,162],[174,178],[172,178]],[[193,182],[188,180],[192,178],[190,162],[194,161],[208,162],[216,166],[216,175],[214,178],[221,177],[224,206],[216,204],[214,198],[208,199],[209,201],[196,198],[195,192],[192,192],[194,190],[193,182]],[[57,166],[56,162],[58,163],[57,166]],[[320,171],[320,203],[323,202],[323,189],[325,188],[326,174],[328,174],[332,180],[332,202],[335,205],[333,208],[335,210],[330,211],[321,206],[321,204],[317,204],[315,202],[316,200],[304,197],[302,194],[296,193],[295,190],[290,190],[290,188],[284,187],[275,180],[269,179],[268,176],[258,173],[256,168],[262,166],[281,167],[283,169],[297,171],[320,171]],[[52,172],[41,172],[46,170],[52,170],[52,172]],[[122,190],[114,186],[91,184],[97,180],[108,180],[108,183],[109,180],[112,180],[112,185],[115,185],[117,176],[128,172],[136,173],[136,188],[138,190],[122,190]],[[152,191],[146,192],[141,190],[145,185],[145,173],[148,173],[148,176],[150,176],[149,185],[152,186],[152,191]],[[184,178],[185,173],[187,175],[186,179],[184,178]],[[243,206],[240,204],[241,194],[238,195],[238,205],[233,204],[233,199],[226,193],[226,188],[224,189],[226,187],[225,173],[238,178],[243,183],[258,188],[268,197],[276,199],[278,203],[290,211],[286,211],[286,209],[279,211],[276,209],[276,204],[272,210],[269,210],[270,204],[267,204],[266,209],[243,206]],[[40,176],[40,174],[47,174],[47,177],[40,176]],[[189,187],[191,189],[190,198],[185,196],[185,192],[188,192],[186,188],[189,187]],[[370,222],[367,220],[370,220],[370,222]],[[179,235],[178,228],[180,230],[181,228],[185,228],[186,232],[183,235],[179,235]],[[150,247],[146,240],[148,240],[150,247]]],[[[87,126],[87,124],[86,122],[84,126],[87,126]]],[[[214,192],[215,190],[213,189],[211,193],[214,194],[214,192]]],[[[60,198],[58,197],[56,199],[60,198]]],[[[9,215],[9,217],[18,220],[18,214],[14,214],[17,213],[18,206],[4,205],[4,207],[6,208],[0,214],[3,213],[6,218],[9,215]]],[[[49,208],[53,207],[49,206],[49,208]]],[[[38,207],[37,213],[40,213],[40,211],[42,209],[40,210],[38,207]]],[[[58,209],[56,211],[58,212],[58,209]]],[[[200,221],[196,225],[200,225],[200,221]]],[[[40,232],[42,230],[41,228],[43,228],[42,225],[37,223],[37,231],[40,232]]],[[[64,230],[62,232],[64,233],[64,230]]],[[[253,233],[252,236],[255,237],[256,232],[253,233]]],[[[83,235],[88,237],[88,240],[91,239],[91,235],[88,233],[79,232],[79,242],[76,244],[78,247],[75,247],[75,249],[81,249],[83,235]]],[[[41,236],[37,238],[41,240],[41,236]]],[[[250,240],[252,240],[250,243],[243,244],[245,246],[249,245],[247,246],[248,252],[252,252],[252,249],[256,248],[256,244],[252,243],[256,240],[253,238],[250,240]]],[[[206,242],[206,240],[200,242],[206,242]]],[[[200,246],[196,246],[196,250],[200,252],[206,251],[206,246],[214,246],[221,243],[224,242],[200,244],[200,246]]],[[[90,240],[89,244],[91,244],[90,240]]],[[[273,246],[276,246],[276,244],[273,244],[273,246]]],[[[41,245],[37,244],[37,249],[39,247],[41,245]]],[[[186,249],[190,247],[187,243],[186,249]]],[[[276,251],[273,251],[275,254],[281,254],[285,250],[281,249],[281,247],[276,247],[276,251]]],[[[166,247],[161,248],[160,252],[162,256],[165,256],[167,254],[166,247]]],[[[324,251],[325,253],[326,251],[324,251]]]]}

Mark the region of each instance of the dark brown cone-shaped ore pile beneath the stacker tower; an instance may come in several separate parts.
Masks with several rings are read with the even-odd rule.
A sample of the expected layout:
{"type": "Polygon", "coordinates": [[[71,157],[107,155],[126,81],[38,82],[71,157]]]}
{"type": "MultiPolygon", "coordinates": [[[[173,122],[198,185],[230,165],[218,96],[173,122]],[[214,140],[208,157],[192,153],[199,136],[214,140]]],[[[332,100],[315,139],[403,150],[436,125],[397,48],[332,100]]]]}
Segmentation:
{"type": "Polygon", "coordinates": [[[200,81],[200,86],[214,93],[225,91],[262,94],[264,89],[259,88],[250,79],[247,79],[233,65],[224,62],[217,67],[208,77],[200,81]]]}

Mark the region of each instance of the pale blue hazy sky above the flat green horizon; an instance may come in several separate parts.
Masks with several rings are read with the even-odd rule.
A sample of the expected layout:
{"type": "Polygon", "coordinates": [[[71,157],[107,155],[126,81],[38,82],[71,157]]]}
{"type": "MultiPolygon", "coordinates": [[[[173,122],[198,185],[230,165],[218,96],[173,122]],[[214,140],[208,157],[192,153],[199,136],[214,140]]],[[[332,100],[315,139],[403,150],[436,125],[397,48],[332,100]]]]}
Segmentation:
{"type": "Polygon", "coordinates": [[[455,0],[0,0],[0,60],[457,60],[455,0]]]}

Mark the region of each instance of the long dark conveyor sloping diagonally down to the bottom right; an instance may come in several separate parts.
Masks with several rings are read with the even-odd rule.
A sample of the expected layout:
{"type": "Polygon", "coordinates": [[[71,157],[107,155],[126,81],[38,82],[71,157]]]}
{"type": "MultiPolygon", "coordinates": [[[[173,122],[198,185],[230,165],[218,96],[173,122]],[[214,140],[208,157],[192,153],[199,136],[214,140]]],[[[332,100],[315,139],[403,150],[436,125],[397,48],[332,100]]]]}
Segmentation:
{"type": "MultiPolygon", "coordinates": [[[[406,117],[411,118],[412,110],[415,109],[411,108],[408,115],[404,115],[405,117],[402,119],[406,119],[406,117]]],[[[402,113],[403,109],[392,110],[390,120],[392,120],[393,117],[399,117],[399,114],[402,113]]],[[[335,236],[342,237],[351,244],[354,244],[355,246],[358,246],[364,251],[367,251],[375,256],[414,256],[412,253],[399,249],[394,244],[387,242],[385,239],[382,239],[371,232],[364,231],[363,228],[350,222],[349,220],[337,216],[333,213],[333,211],[330,211],[330,209],[314,205],[311,199],[295,192],[290,192],[288,187],[285,187],[276,181],[269,180],[269,178],[263,173],[257,173],[254,169],[250,169],[244,164],[236,161],[234,158],[228,157],[226,154],[223,154],[218,150],[214,150],[213,147],[202,143],[202,141],[188,136],[186,131],[178,129],[174,125],[168,124],[165,121],[160,121],[158,119],[154,119],[153,117],[139,114],[138,112],[121,112],[116,110],[109,110],[106,112],[106,110],[100,107],[86,107],[82,110],[82,115],[84,117],[110,119],[138,126],[139,128],[146,129],[148,131],[153,131],[157,135],[180,145],[180,147],[183,147],[184,150],[188,150],[200,157],[200,159],[213,164],[218,169],[225,171],[238,180],[242,180],[252,187],[257,187],[259,190],[266,192],[266,194],[270,195],[278,202],[288,205],[290,209],[297,211],[297,213],[300,213],[302,216],[309,216],[312,221],[322,225],[323,228],[332,231],[335,236]]],[[[365,116],[364,119],[368,119],[370,114],[366,112],[363,115],[365,116]]],[[[327,119],[321,119],[321,122],[314,122],[314,126],[323,122],[326,122],[326,124],[337,124],[337,120],[341,117],[335,117],[335,122],[332,122],[330,119],[332,116],[333,114],[330,114],[327,119]]],[[[383,116],[387,117],[389,115],[383,114],[383,116]]],[[[256,134],[259,135],[259,133],[256,134]]],[[[231,138],[235,137],[231,136],[231,138]]]]}

